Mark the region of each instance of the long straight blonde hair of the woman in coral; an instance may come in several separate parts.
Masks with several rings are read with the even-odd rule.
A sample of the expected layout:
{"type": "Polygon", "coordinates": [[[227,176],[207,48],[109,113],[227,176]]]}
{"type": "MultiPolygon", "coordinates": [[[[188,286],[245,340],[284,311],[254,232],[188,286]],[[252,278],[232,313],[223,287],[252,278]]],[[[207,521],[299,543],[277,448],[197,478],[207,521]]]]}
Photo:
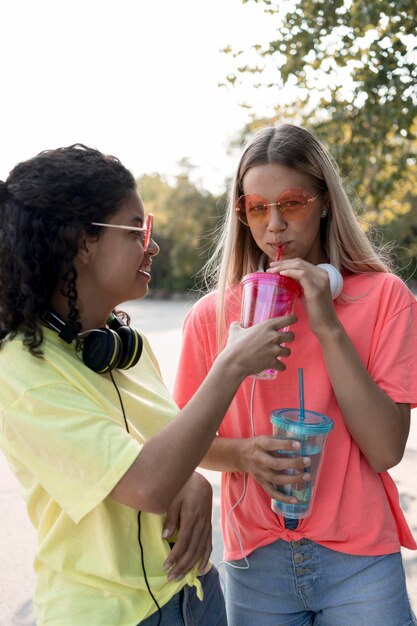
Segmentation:
{"type": "Polygon", "coordinates": [[[250,229],[236,214],[243,194],[243,177],[255,165],[277,163],[309,175],[317,191],[327,191],[330,211],[322,220],[321,244],[329,262],[353,274],[390,271],[388,260],[371,243],[344,189],[339,168],[320,141],[292,124],[266,126],[255,131],[243,148],[230,193],[229,209],[219,228],[219,241],[204,268],[209,290],[217,289],[219,348],[225,331],[225,294],[245,274],[258,269],[261,250],[250,229]]]}

